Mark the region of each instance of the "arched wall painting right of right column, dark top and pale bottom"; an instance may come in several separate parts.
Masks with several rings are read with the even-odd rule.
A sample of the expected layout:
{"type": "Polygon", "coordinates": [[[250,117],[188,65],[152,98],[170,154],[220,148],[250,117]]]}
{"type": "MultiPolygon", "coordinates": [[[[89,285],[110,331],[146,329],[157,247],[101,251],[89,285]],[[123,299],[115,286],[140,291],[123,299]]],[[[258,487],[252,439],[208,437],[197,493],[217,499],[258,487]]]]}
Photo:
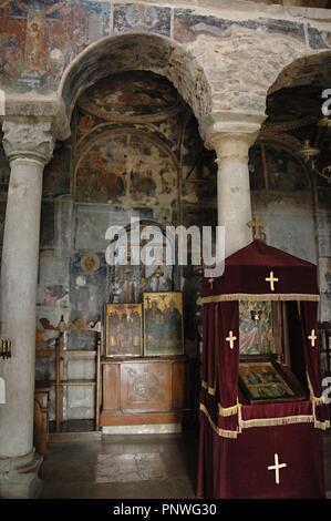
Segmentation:
{"type": "Polygon", "coordinates": [[[249,173],[252,211],[265,223],[263,238],[316,264],[313,193],[296,152],[278,143],[258,142],[249,152],[249,173]]]}

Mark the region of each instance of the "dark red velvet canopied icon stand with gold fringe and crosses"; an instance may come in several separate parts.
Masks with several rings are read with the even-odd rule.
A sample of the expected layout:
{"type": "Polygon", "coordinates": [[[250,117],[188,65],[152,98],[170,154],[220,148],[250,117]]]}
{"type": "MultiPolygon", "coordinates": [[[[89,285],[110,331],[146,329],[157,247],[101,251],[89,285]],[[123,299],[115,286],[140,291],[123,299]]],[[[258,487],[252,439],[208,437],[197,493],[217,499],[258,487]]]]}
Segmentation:
{"type": "Polygon", "coordinates": [[[317,267],[261,241],[254,241],[229,256],[221,277],[204,279],[198,496],[323,497],[320,430],[328,427],[328,421],[322,406],[318,343],[309,339],[317,331],[318,300],[317,267]],[[286,300],[292,306],[294,336],[290,341],[293,343],[297,376],[303,375],[309,389],[306,400],[249,405],[241,399],[238,389],[240,300],[286,300]],[[307,466],[312,466],[314,471],[304,471],[307,479],[301,488],[298,483],[291,484],[293,472],[301,471],[297,454],[296,466],[289,466],[291,472],[289,469],[283,472],[291,478],[275,487],[265,463],[258,463],[261,443],[270,452],[266,454],[269,460],[276,453],[282,456],[283,445],[294,443],[298,449],[301,443],[300,439],[296,441],[299,427],[302,428],[300,437],[310,443],[309,448],[302,447],[303,451],[310,451],[313,460],[307,466]],[[252,456],[255,439],[256,453],[252,456]],[[246,443],[250,446],[249,454],[246,454],[246,443]],[[273,446],[278,447],[278,452],[273,446]],[[236,457],[239,453],[240,461],[236,457]],[[256,480],[249,481],[249,476],[234,478],[236,468],[240,472],[247,463],[242,460],[245,454],[249,464],[254,460],[260,469],[255,471],[256,480]],[[270,487],[266,489],[268,480],[270,487]]]}

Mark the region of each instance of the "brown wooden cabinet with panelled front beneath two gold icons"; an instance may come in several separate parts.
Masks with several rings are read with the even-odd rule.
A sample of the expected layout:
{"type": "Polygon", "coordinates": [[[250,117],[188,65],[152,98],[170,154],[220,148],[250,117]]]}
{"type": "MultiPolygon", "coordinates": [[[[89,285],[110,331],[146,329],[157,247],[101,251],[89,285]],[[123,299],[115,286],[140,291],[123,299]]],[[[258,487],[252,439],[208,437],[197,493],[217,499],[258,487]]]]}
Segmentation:
{"type": "Polygon", "coordinates": [[[182,423],[187,380],[185,356],[103,360],[100,425],[182,423]]]}

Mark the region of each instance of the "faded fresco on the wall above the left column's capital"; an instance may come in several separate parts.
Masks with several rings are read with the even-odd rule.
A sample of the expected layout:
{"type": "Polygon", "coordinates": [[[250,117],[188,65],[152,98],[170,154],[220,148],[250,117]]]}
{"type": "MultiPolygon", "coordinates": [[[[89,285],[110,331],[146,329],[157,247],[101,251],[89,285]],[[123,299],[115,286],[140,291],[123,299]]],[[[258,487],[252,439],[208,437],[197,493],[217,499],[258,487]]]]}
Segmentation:
{"type": "Polygon", "coordinates": [[[21,91],[53,86],[79,52],[105,35],[108,17],[110,6],[87,0],[2,2],[1,84],[21,91]]]}

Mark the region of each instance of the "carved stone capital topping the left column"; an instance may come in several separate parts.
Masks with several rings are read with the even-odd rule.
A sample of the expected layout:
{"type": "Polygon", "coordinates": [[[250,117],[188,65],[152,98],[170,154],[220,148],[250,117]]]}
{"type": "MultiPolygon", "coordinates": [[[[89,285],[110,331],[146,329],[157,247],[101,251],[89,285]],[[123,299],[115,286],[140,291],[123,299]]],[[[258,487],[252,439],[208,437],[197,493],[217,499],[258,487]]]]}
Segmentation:
{"type": "Polygon", "coordinates": [[[6,120],[3,149],[9,161],[33,160],[45,165],[53,155],[54,139],[50,121],[6,120]]]}

